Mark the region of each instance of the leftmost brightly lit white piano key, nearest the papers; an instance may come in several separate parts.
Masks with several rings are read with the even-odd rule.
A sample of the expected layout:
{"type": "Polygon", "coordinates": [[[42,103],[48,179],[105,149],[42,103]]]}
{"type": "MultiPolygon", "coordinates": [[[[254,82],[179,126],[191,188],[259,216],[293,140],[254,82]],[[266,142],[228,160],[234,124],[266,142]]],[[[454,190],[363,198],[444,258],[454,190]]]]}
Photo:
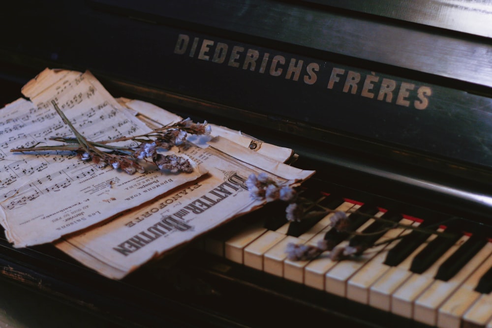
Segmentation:
{"type": "Polygon", "coordinates": [[[237,263],[244,263],[244,248],[253,240],[267,232],[263,222],[258,221],[244,228],[238,234],[225,241],[225,257],[237,263]]]}

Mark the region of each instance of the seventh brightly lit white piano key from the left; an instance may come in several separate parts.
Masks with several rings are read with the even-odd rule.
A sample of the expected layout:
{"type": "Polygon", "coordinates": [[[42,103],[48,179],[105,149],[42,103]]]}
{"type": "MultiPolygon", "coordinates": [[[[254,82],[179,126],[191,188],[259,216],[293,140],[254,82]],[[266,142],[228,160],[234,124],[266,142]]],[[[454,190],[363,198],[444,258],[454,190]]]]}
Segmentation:
{"type": "MultiPolygon", "coordinates": [[[[401,224],[418,226],[419,222],[409,219],[402,219],[401,224]]],[[[410,233],[405,231],[404,234],[410,233]]],[[[391,267],[384,264],[384,260],[388,251],[393,248],[400,240],[395,240],[387,245],[384,250],[378,253],[369,263],[362,267],[353,277],[347,282],[347,298],[355,300],[359,303],[369,303],[369,288],[374,282],[379,279],[391,267]]]]}

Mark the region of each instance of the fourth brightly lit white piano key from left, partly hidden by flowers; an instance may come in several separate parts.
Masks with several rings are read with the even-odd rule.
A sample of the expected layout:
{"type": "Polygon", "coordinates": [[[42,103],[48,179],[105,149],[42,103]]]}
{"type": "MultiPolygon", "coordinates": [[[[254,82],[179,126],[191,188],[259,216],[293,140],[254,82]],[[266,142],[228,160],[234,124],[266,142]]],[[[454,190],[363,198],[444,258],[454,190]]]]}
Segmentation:
{"type": "MultiPolygon", "coordinates": [[[[354,211],[359,209],[360,205],[354,205],[353,203],[344,202],[341,204],[337,210],[347,212],[348,210],[354,211]]],[[[327,215],[329,219],[333,213],[327,215]]],[[[331,229],[330,226],[325,227],[323,230],[314,235],[311,239],[307,241],[307,244],[316,246],[319,240],[322,240],[326,234],[331,229]]],[[[310,261],[291,261],[286,259],[283,262],[283,276],[286,279],[304,284],[304,268],[309,264],[310,261]]]]}

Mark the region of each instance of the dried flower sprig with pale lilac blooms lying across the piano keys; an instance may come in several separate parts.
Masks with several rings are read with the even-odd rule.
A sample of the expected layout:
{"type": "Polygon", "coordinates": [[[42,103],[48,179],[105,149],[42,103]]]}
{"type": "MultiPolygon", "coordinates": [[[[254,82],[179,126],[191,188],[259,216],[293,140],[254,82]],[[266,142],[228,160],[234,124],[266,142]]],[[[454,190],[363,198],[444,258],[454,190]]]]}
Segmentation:
{"type": "Polygon", "coordinates": [[[293,187],[278,186],[273,179],[270,179],[263,173],[258,176],[254,174],[250,175],[246,180],[246,186],[253,199],[265,200],[267,202],[282,200],[289,203],[285,211],[286,219],[291,221],[291,224],[310,220],[314,216],[325,217],[326,215],[331,214],[330,227],[332,229],[329,230],[324,239],[318,241],[316,245],[303,243],[289,243],[287,245],[285,252],[287,258],[292,261],[312,260],[325,251],[330,251],[327,256],[333,261],[340,261],[353,256],[359,256],[369,248],[388,244],[406,236],[406,234],[400,234],[400,236],[396,238],[378,241],[384,233],[395,228],[418,231],[428,234],[429,236],[431,234],[451,236],[451,234],[446,232],[439,232],[433,229],[433,227],[435,228],[444,222],[439,222],[426,228],[419,228],[415,225],[400,223],[399,219],[396,220],[399,216],[387,219],[384,218],[385,216],[379,217],[377,215],[365,213],[359,209],[343,212],[336,209],[325,208],[320,205],[321,200],[323,200],[324,197],[317,201],[312,201],[302,197],[303,194],[298,193],[293,187]],[[373,219],[378,222],[378,225],[375,229],[365,229],[362,232],[358,232],[358,223],[355,222],[357,219],[354,219],[352,214],[356,214],[355,216],[359,218],[373,219]],[[338,246],[341,240],[347,238],[350,239],[347,245],[338,246]]]}

